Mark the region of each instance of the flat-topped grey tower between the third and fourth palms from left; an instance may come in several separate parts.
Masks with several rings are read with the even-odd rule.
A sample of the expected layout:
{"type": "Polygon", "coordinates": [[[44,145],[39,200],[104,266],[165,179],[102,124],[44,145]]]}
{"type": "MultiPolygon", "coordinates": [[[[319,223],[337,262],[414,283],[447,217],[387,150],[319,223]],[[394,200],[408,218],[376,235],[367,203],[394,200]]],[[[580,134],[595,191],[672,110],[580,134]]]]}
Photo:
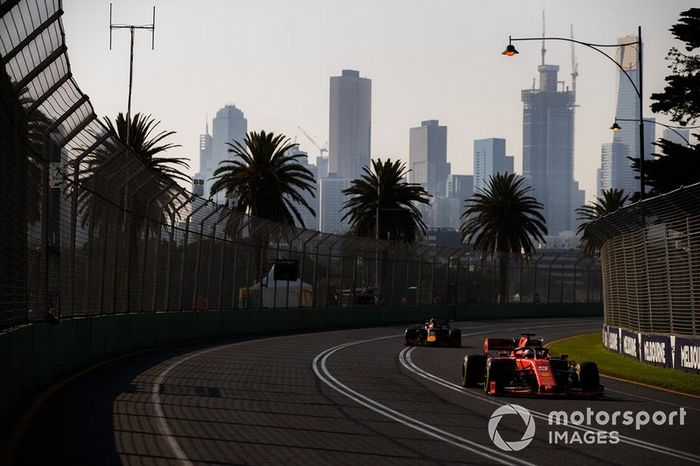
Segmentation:
{"type": "Polygon", "coordinates": [[[422,185],[433,196],[445,196],[450,174],[447,126],[440,126],[438,120],[427,120],[410,129],[409,165],[412,183],[422,185]]]}

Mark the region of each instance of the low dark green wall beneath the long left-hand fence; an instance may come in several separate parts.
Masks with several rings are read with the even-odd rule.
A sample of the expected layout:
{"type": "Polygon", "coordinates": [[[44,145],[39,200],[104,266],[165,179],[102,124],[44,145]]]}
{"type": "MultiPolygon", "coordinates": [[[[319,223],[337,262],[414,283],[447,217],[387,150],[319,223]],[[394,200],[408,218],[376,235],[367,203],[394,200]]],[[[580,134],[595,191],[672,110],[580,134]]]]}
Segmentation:
{"type": "MultiPolygon", "coordinates": [[[[465,305],[457,320],[602,316],[600,304],[465,305]]],[[[233,336],[419,323],[446,306],[121,314],[37,323],[0,333],[0,432],[50,384],[99,361],[147,348],[233,336]]]]}

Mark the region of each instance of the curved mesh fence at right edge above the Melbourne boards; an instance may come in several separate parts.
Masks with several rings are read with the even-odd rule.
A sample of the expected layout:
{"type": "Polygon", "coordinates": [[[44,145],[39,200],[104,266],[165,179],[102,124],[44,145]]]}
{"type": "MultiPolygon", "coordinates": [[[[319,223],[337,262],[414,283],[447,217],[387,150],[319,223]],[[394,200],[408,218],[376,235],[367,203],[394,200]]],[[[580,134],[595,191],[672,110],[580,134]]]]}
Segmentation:
{"type": "Polygon", "coordinates": [[[602,245],[605,323],[700,335],[700,183],[646,199],[591,225],[602,245]]]}

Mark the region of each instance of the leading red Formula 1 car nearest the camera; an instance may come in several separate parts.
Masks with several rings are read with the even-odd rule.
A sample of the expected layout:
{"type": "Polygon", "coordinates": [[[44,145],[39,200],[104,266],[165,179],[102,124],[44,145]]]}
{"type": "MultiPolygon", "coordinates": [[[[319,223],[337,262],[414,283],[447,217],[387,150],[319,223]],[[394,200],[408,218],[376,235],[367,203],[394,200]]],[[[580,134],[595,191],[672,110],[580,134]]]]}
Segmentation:
{"type": "Polygon", "coordinates": [[[598,366],[571,361],[565,354],[549,355],[541,338],[524,333],[519,339],[486,338],[483,354],[470,354],[462,364],[462,385],[477,387],[491,395],[569,395],[594,397],[603,394],[598,366]]]}

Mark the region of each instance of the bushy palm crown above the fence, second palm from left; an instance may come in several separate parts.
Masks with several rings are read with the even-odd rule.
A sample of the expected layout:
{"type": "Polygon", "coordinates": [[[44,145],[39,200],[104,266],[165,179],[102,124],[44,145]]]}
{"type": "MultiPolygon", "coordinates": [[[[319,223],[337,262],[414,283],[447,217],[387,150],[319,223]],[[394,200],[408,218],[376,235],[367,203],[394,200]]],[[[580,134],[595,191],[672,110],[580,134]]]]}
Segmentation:
{"type": "Polygon", "coordinates": [[[304,226],[297,205],[316,215],[303,193],[315,196],[313,174],[297,159],[302,153],[286,136],[265,131],[246,134],[243,144],[226,143],[233,160],[224,160],[214,171],[211,194],[224,192],[237,202],[237,209],[254,217],[304,226]]]}

